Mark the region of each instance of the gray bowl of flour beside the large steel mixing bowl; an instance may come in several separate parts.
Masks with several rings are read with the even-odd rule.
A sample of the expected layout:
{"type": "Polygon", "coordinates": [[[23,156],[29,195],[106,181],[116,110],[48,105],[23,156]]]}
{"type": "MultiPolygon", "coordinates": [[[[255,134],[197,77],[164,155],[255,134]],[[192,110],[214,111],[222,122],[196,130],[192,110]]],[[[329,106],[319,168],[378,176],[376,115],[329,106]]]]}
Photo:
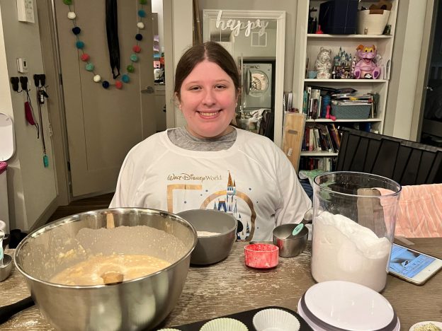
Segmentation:
{"type": "Polygon", "coordinates": [[[193,265],[211,265],[224,260],[237,239],[237,220],[230,214],[212,209],[192,209],[178,214],[193,225],[198,234],[198,243],[191,255],[193,265]],[[201,231],[218,233],[200,236],[201,231]]]}

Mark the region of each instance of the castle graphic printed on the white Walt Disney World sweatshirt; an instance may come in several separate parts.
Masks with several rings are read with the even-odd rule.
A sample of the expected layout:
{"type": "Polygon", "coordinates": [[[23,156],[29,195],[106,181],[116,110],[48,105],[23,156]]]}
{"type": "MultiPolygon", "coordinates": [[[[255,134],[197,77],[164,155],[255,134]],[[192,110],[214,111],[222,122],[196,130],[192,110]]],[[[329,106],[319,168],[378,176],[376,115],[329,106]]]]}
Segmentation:
{"type": "Polygon", "coordinates": [[[250,236],[251,222],[242,219],[242,214],[238,210],[237,185],[229,172],[227,179],[227,190],[224,198],[215,199],[213,202],[213,209],[224,211],[231,214],[237,220],[237,240],[246,240],[250,236]]]}

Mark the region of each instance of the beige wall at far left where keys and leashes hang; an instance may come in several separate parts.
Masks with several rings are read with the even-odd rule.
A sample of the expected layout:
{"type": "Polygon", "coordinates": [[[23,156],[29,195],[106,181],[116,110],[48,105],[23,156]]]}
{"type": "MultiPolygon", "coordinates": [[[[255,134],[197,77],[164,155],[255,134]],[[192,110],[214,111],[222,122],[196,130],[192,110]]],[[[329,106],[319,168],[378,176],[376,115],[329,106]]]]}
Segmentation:
{"type": "MultiPolygon", "coordinates": [[[[34,3],[35,6],[35,3],[34,3]]],[[[27,76],[35,120],[38,120],[34,74],[43,74],[41,43],[37,11],[35,23],[17,20],[16,0],[0,0],[0,107],[13,118],[16,134],[16,153],[8,161],[8,200],[11,228],[30,229],[40,220],[57,197],[53,168],[52,141],[46,105],[42,106],[43,129],[49,167],[43,166],[42,141],[37,139],[35,127],[26,124],[25,93],[12,90],[11,76],[27,76]],[[28,61],[28,73],[20,74],[16,58],[28,61]]],[[[50,95],[50,88],[48,91],[50,95]]]]}

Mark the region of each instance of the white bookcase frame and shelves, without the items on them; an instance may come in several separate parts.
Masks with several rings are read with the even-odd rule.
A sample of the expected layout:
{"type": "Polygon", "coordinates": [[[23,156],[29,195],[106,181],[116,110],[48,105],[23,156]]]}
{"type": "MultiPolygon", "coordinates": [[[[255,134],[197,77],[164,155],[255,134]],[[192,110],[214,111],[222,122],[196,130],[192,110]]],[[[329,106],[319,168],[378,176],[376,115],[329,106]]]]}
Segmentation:
{"type": "MultiPolygon", "coordinates": [[[[331,120],[331,118],[324,118],[324,116],[320,115],[309,118],[307,114],[306,128],[317,123],[333,123],[336,128],[340,126],[359,127],[360,129],[370,130],[371,132],[378,132],[382,134],[386,111],[385,105],[387,103],[388,83],[390,79],[390,59],[392,57],[392,47],[395,35],[397,0],[392,0],[392,8],[390,10],[390,15],[387,22],[387,24],[390,25],[389,35],[332,35],[327,33],[307,33],[309,16],[316,15],[318,19],[319,15],[321,15],[319,13],[320,5],[324,4],[324,2],[326,1],[297,2],[297,31],[295,40],[295,45],[297,45],[297,47],[295,48],[295,69],[293,75],[294,107],[303,109],[305,103],[304,91],[309,86],[319,90],[327,88],[353,88],[358,91],[358,94],[377,93],[378,100],[375,113],[368,112],[367,115],[368,107],[358,106],[359,108],[363,108],[363,111],[351,111],[351,115],[349,115],[350,109],[346,109],[343,106],[333,107],[331,105],[330,115],[337,115],[334,120],[331,120]],[[316,8],[317,11],[310,13],[310,8],[316,8]],[[356,54],[356,48],[358,45],[365,45],[368,47],[375,45],[375,49],[380,55],[380,58],[378,57],[378,61],[376,62],[376,65],[380,67],[380,76],[378,79],[307,79],[307,70],[315,70],[314,62],[317,59],[317,55],[319,50],[321,50],[321,47],[331,50],[331,59],[333,62],[333,58],[336,56],[336,54],[344,54],[345,52],[348,55],[351,54],[351,57],[348,58],[353,58],[356,54]],[[307,63],[308,65],[306,67],[307,63]],[[337,114],[336,111],[338,111],[337,114]],[[358,112],[361,113],[360,117],[358,116],[358,112]]],[[[344,2],[346,1],[341,1],[341,3],[344,2]]],[[[369,8],[370,4],[376,4],[377,2],[378,1],[361,1],[359,3],[359,8],[361,8],[361,6],[369,8]]],[[[335,29],[334,31],[337,30],[335,29]]],[[[346,64],[348,64],[348,62],[346,62],[346,64]]],[[[345,75],[343,76],[346,77],[345,75]]],[[[321,111],[320,108],[321,106],[319,105],[319,114],[321,111]]],[[[321,165],[331,165],[330,170],[333,170],[333,158],[335,158],[336,155],[337,153],[328,150],[302,151],[300,168],[302,168],[303,165],[311,166],[312,164],[319,165],[319,163],[321,163],[321,165]],[[313,161],[310,162],[308,160],[309,158],[313,158],[313,161]],[[325,160],[319,162],[321,158],[325,158],[325,160]]]]}

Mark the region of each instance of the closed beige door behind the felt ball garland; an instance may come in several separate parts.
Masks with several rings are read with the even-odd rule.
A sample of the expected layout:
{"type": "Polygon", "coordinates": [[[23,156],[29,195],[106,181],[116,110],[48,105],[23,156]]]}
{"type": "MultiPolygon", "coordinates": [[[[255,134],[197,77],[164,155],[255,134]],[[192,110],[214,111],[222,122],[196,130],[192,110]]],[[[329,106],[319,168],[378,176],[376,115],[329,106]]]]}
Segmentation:
{"type": "Polygon", "coordinates": [[[106,89],[102,82],[106,80],[112,84],[114,81],[109,66],[104,3],[76,1],[72,7],[77,15],[76,24],[81,28],[81,41],[89,47],[84,51],[91,56],[96,69],[94,74],[103,76],[96,83],[94,74],[84,68],[81,52],[75,49],[72,21],[67,18],[71,8],[62,1],[38,1],[44,3],[40,8],[47,11],[50,18],[42,22],[42,31],[49,32],[41,36],[45,68],[58,67],[62,75],[62,79],[58,74],[52,75],[48,83],[58,86],[60,93],[60,103],[52,105],[51,121],[60,124],[54,140],[64,140],[58,142],[55,154],[59,190],[63,181],[70,184],[64,187],[67,194],[59,204],[68,204],[72,199],[113,192],[126,153],[157,131],[152,109],[154,94],[149,93],[154,91],[152,25],[147,24],[151,20],[152,7],[151,1],[143,6],[147,15],[145,28],[140,31],[137,30],[139,1],[118,6],[122,75],[127,74],[136,33],[144,35],[139,43],[142,52],[140,61],[132,63],[135,73],[130,75],[130,82],[121,89],[115,86],[106,89]],[[59,175],[59,170],[64,174],[59,175]]]}

